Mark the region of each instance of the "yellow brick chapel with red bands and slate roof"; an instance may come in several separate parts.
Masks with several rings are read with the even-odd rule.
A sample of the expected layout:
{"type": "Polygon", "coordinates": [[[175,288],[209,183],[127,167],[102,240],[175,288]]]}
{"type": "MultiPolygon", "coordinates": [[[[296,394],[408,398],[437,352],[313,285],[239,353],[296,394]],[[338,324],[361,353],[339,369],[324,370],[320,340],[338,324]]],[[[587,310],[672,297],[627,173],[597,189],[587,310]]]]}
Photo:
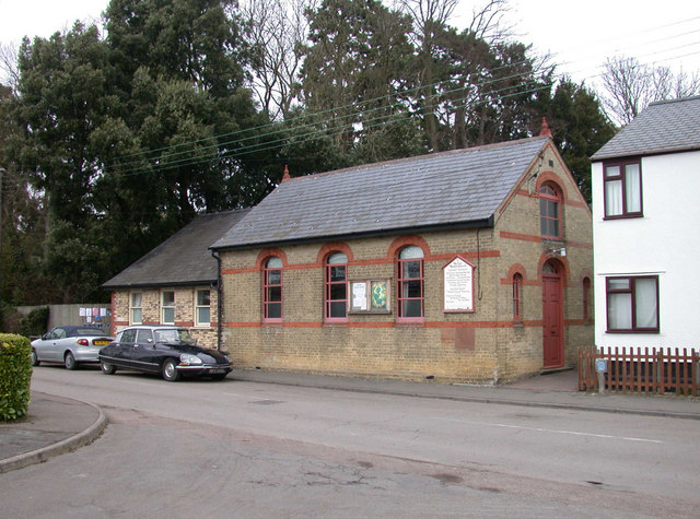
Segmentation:
{"type": "Polygon", "coordinates": [[[285,175],[211,250],[237,368],[495,384],[593,343],[591,211],[547,135],[285,175]]]}

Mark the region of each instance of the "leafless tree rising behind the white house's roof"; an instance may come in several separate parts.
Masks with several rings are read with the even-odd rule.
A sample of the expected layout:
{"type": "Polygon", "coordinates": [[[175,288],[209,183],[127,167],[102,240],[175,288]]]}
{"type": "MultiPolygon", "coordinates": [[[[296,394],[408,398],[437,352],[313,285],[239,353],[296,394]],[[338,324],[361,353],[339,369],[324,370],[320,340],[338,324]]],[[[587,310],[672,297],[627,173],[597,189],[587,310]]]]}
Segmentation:
{"type": "Polygon", "coordinates": [[[674,73],[667,67],[640,63],[637,58],[612,58],[603,72],[604,108],[612,120],[629,123],[650,103],[700,93],[700,75],[674,73]]]}

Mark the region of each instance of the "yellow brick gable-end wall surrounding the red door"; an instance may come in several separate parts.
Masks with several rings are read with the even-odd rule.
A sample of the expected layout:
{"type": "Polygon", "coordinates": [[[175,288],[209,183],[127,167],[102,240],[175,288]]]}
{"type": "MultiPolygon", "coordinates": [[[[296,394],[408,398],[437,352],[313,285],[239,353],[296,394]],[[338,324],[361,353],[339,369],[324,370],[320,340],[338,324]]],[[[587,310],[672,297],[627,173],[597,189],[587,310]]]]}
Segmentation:
{"type": "MultiPolygon", "coordinates": [[[[567,275],[564,283],[564,365],[574,366],[579,346],[593,344],[593,293],[590,296],[591,318],[583,320],[583,279],[593,281],[593,237],[591,212],[583,202],[575,184],[567,173],[559,155],[552,150],[533,167],[537,174],[517,189],[517,193],[508,203],[506,210],[498,216],[497,235],[501,260],[508,270],[521,264],[524,272],[522,296],[523,320],[541,321],[540,268],[544,260],[551,258],[561,263],[567,275]],[[562,188],[564,203],[562,208],[562,239],[547,240],[537,238],[539,228],[538,186],[542,180],[557,184],[562,188]],[[536,217],[533,217],[535,215],[536,217]],[[553,252],[565,249],[565,256],[553,252]]],[[[499,311],[502,318],[512,315],[512,284],[503,284],[499,292],[499,311]]],[[[522,327],[506,330],[504,337],[509,347],[503,350],[501,366],[504,378],[514,378],[524,373],[533,373],[542,365],[541,328],[522,327]]]]}

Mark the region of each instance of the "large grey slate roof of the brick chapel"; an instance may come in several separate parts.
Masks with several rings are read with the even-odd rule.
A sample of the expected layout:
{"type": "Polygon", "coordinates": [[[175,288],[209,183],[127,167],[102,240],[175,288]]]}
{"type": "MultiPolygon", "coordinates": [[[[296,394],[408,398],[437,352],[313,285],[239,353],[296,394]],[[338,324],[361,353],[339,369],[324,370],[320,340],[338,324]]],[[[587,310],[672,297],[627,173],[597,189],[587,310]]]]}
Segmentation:
{"type": "Polygon", "coordinates": [[[491,225],[547,142],[536,137],[293,178],[212,248],[491,225]]]}

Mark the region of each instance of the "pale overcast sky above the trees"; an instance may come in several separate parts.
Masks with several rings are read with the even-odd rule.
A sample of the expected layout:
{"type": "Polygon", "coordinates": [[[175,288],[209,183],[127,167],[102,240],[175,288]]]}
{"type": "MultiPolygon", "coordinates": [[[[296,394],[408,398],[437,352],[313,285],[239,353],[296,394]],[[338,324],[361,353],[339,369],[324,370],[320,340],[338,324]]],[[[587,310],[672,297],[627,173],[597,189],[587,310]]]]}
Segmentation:
{"type": "MultiPolygon", "coordinates": [[[[472,7],[460,0],[452,25],[465,28],[472,7]]],[[[0,0],[0,44],[49,37],[75,20],[98,21],[108,0],[0,0]]],[[[388,2],[385,2],[388,4],[388,2]]],[[[607,58],[634,57],[675,72],[700,73],[700,1],[510,0],[509,21],[517,39],[549,52],[558,71],[595,85],[607,58]],[[646,4],[649,8],[640,8],[646,4]]]]}

